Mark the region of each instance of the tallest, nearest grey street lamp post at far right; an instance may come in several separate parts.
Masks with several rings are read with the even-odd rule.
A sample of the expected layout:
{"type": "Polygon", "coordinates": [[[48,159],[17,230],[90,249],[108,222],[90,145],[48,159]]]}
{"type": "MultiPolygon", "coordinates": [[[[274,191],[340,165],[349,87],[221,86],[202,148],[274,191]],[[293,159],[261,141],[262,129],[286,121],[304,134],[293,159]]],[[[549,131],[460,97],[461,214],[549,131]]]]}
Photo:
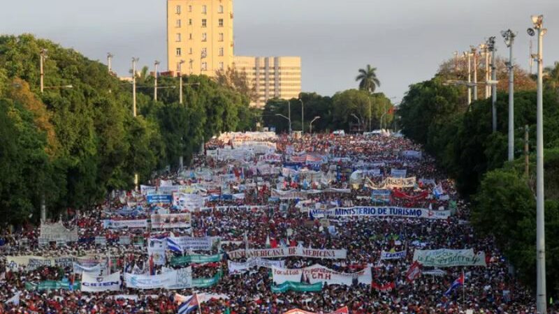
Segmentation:
{"type": "Polygon", "coordinates": [[[537,253],[537,296],[536,306],[539,313],[547,313],[546,306],[546,252],[545,252],[545,219],[544,219],[544,109],[543,109],[543,48],[544,35],[543,15],[532,16],[533,29],[528,35],[534,36],[537,31],[537,110],[536,110],[536,253],[537,253]],[[536,30],[536,31],[535,31],[536,30]]]}

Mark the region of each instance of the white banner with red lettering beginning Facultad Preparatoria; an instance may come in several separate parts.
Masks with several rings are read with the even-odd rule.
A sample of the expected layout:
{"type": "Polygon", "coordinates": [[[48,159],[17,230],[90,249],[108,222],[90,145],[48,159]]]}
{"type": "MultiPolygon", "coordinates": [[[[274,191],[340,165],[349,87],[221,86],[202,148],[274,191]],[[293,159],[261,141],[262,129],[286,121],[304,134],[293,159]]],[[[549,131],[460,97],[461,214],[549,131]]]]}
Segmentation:
{"type": "Polygon", "coordinates": [[[339,273],[319,264],[301,269],[272,267],[272,276],[276,285],[280,285],[286,281],[311,284],[328,283],[328,285],[353,285],[354,283],[370,285],[372,281],[370,267],[356,273],[339,273]]]}

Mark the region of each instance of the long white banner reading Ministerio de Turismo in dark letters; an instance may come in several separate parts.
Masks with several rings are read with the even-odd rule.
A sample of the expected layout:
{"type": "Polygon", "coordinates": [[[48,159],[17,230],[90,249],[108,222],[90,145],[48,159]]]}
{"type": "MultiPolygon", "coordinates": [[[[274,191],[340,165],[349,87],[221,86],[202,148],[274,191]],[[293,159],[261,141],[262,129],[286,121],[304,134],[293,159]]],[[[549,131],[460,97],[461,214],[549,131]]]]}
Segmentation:
{"type": "Polygon", "coordinates": [[[333,209],[310,209],[309,216],[314,218],[328,217],[351,217],[351,216],[370,216],[370,217],[401,217],[401,218],[428,218],[428,219],[447,219],[450,211],[432,211],[423,208],[389,207],[389,206],[356,206],[356,207],[335,207],[333,209]]]}

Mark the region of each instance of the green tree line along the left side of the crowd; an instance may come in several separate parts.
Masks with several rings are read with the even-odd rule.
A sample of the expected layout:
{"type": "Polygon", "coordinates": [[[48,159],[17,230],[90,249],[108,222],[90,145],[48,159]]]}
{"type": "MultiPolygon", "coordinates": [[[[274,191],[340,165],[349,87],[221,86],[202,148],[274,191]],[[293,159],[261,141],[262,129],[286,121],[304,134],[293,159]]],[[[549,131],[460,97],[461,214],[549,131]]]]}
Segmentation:
{"type": "Polygon", "coordinates": [[[252,130],[259,119],[238,91],[205,76],[178,80],[138,75],[138,117],[132,84],[71,49],[31,35],[0,37],[0,214],[2,226],[37,222],[41,199],[50,218],[87,209],[108,193],[131,189],[179,156],[189,162],[203,140],[252,130]],[[44,93],[39,53],[45,48],[44,93]],[[68,88],[71,85],[72,88],[68,88]],[[66,88],[64,88],[66,87],[66,88]],[[151,87],[151,88],[150,88],[151,87]]]}

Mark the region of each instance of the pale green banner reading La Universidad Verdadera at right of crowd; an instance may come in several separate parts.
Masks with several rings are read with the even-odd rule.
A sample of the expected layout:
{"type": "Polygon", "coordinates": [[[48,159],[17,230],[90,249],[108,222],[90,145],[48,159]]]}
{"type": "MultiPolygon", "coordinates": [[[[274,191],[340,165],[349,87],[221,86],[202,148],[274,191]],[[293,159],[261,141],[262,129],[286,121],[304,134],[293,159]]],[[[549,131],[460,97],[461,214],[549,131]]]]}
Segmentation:
{"type": "Polygon", "coordinates": [[[472,248],[465,250],[416,250],[414,261],[427,267],[487,266],[485,252],[474,253],[472,248]]]}

